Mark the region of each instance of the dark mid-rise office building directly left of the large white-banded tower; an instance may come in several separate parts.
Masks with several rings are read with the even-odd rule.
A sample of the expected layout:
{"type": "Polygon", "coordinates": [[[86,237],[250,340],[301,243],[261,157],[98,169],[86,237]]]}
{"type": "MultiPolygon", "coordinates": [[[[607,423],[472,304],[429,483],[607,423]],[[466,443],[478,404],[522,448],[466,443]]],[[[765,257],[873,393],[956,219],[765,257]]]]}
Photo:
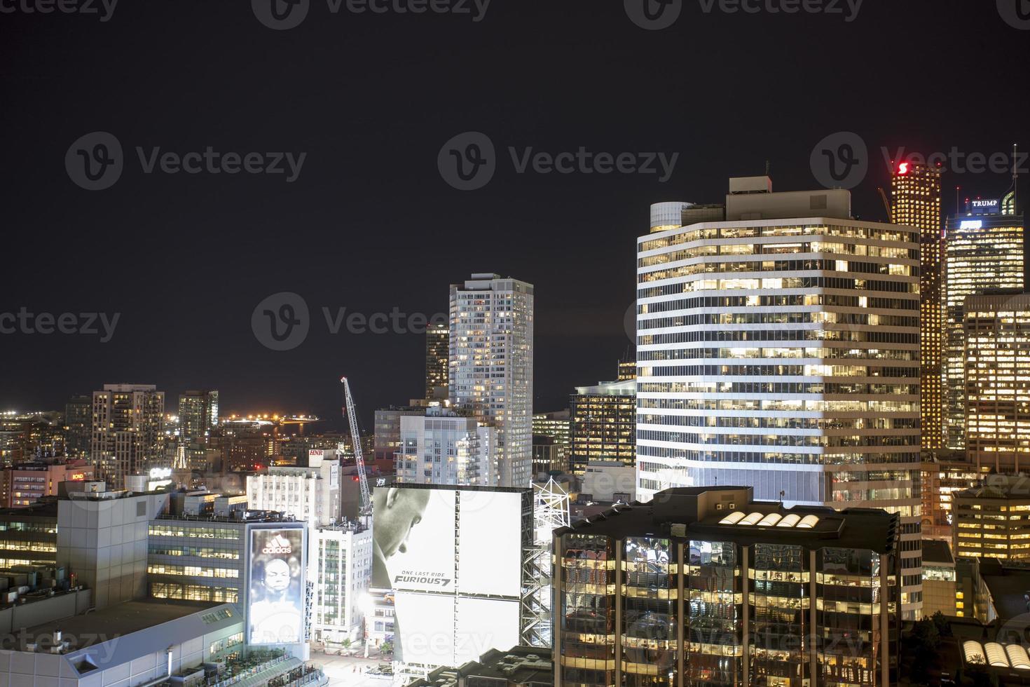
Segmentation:
{"type": "Polygon", "coordinates": [[[609,460],[636,462],[637,379],[577,386],[570,397],[572,447],[569,469],[583,476],[586,466],[609,460]]]}

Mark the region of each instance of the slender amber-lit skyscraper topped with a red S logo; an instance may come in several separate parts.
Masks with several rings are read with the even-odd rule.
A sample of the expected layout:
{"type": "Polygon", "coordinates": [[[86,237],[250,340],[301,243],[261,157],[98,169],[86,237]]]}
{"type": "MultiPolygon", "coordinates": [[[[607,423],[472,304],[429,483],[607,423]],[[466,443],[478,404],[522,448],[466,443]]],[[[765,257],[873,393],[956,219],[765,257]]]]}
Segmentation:
{"type": "Polygon", "coordinates": [[[925,449],[945,445],[941,364],[945,353],[945,321],[941,313],[943,271],[940,218],[940,170],[900,163],[891,177],[892,212],[895,225],[919,230],[920,264],[920,428],[925,449]]]}

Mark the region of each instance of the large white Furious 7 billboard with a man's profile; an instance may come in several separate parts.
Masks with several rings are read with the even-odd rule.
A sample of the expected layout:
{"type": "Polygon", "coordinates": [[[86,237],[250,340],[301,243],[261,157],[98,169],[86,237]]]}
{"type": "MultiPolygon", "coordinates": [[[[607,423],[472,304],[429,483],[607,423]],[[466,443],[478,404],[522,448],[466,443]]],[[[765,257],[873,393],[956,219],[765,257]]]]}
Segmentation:
{"type": "Polygon", "coordinates": [[[396,660],[460,665],[519,643],[528,489],[398,484],[373,503],[372,587],[393,590],[396,660]]]}

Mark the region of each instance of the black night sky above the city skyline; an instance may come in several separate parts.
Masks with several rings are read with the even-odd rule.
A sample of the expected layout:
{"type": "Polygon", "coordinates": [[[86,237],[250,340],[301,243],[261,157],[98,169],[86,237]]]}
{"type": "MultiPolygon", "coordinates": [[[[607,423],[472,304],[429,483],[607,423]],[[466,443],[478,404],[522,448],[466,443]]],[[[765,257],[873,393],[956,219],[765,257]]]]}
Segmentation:
{"type": "MultiPolygon", "coordinates": [[[[423,340],[332,335],[321,308],[441,312],[448,284],[472,272],[536,284],[536,407],[560,408],[574,385],[612,378],[629,343],[649,203],[721,202],[727,177],[760,174],[766,160],[776,188],[814,187],[813,147],[853,131],[871,161],[854,209],[882,219],[881,146],[1030,150],[1030,31],[993,0],[866,0],[852,22],[683,0],[660,31],[616,0],[492,0],[479,22],[311,0],[286,31],[263,26],[247,0],[121,0],[107,22],[24,11],[35,1],[0,0],[15,9],[0,13],[0,313],[121,318],[108,343],[0,335],[0,409],[60,407],[127,381],[158,384],[170,407],[183,389],[214,387],[229,411],[336,420],[348,374],[368,425],[375,407],[421,396],[423,340]],[[117,138],[125,169],[91,192],[65,156],[96,131],[117,138]],[[497,150],[492,180],[472,192],[437,168],[467,131],[497,150]],[[137,146],[307,158],[291,183],[144,174],[137,146]],[[680,157],[662,183],[518,174],[509,146],[680,157]],[[250,327],[279,291],[311,310],[289,351],[265,348],[250,327]]],[[[946,176],[956,183],[999,196],[1008,180],[946,176]]]]}

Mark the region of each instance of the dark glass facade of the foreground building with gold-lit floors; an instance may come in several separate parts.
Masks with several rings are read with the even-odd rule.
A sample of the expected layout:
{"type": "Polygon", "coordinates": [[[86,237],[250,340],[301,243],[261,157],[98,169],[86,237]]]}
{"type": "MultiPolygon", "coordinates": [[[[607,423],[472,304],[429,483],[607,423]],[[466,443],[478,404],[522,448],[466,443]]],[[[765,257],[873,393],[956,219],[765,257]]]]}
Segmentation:
{"type": "Polygon", "coordinates": [[[897,678],[891,555],[654,535],[569,534],[556,546],[559,687],[681,677],[687,687],[872,687],[897,678]]]}

